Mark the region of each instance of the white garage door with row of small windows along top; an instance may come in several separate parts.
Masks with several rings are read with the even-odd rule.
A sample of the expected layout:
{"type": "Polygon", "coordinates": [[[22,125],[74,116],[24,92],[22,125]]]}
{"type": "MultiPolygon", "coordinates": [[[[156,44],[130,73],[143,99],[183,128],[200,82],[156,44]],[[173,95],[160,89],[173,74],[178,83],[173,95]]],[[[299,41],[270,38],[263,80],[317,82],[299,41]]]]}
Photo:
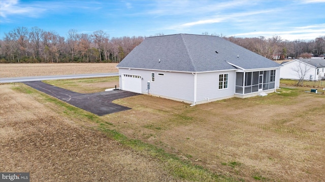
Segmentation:
{"type": "Polygon", "coordinates": [[[122,74],[122,89],[129,92],[139,93],[141,92],[141,76],[132,74],[122,74]]]}

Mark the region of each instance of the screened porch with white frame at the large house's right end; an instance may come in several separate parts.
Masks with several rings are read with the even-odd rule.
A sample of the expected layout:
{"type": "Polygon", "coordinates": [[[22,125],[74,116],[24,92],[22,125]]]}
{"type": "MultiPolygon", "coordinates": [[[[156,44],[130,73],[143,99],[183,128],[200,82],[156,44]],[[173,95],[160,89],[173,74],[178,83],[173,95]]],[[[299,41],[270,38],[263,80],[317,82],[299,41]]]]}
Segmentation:
{"type": "Polygon", "coordinates": [[[259,92],[273,92],[275,88],[275,69],[261,71],[243,71],[236,72],[236,90],[237,97],[246,98],[257,95],[259,92]]]}

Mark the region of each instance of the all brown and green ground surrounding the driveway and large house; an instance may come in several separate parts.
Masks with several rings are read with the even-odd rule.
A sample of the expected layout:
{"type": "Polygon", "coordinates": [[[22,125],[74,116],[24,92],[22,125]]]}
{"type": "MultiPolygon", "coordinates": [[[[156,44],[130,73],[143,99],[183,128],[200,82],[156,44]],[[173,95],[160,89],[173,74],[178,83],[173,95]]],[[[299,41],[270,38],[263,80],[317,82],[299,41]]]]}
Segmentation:
{"type": "MultiPolygon", "coordinates": [[[[48,82],[89,93],[116,80],[48,82]]],[[[325,95],[306,90],[194,107],[140,95],[114,101],[132,110],[99,117],[3,84],[0,171],[31,171],[33,181],[322,181],[325,95]]]]}

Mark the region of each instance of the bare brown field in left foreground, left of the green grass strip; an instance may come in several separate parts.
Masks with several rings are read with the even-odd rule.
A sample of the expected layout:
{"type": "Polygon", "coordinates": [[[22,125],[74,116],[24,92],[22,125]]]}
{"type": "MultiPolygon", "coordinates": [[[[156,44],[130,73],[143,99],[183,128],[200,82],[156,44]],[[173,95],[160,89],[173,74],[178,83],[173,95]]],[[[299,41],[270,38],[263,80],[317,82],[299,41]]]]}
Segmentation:
{"type": "Polygon", "coordinates": [[[30,172],[30,181],[177,181],[155,159],[11,87],[0,85],[0,171],[30,172]]]}

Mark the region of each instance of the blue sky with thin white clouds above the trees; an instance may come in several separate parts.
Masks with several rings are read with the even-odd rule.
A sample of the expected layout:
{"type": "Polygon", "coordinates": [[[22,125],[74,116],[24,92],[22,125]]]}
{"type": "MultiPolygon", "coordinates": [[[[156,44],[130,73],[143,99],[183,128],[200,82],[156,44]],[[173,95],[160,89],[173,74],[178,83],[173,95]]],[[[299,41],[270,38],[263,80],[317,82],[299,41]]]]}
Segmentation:
{"type": "Polygon", "coordinates": [[[325,0],[0,0],[0,38],[17,27],[37,26],[64,37],[75,29],[103,30],[110,37],[208,32],[309,40],[325,36],[324,10],[325,0]]]}

